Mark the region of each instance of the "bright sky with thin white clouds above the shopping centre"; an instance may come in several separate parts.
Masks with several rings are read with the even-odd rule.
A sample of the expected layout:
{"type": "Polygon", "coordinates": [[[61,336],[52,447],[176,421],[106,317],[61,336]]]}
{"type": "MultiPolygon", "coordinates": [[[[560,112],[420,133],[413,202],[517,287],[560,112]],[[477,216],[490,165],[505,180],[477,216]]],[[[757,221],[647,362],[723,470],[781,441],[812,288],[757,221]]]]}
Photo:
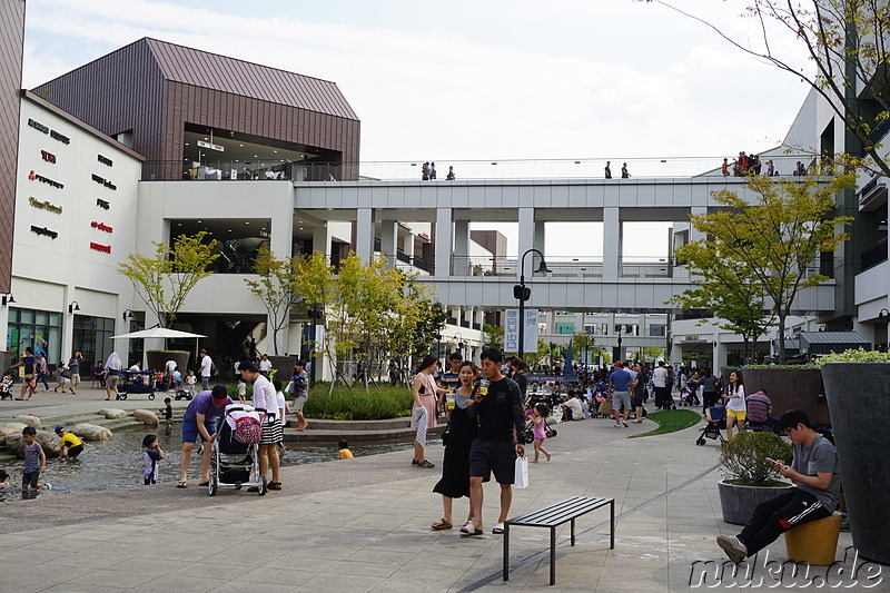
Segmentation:
{"type": "MultiPolygon", "coordinates": [[[[672,3],[758,42],[744,0],[672,3]]],[[[362,120],[363,161],[443,171],[477,159],[712,168],[779,146],[809,90],[636,0],[29,0],[23,86],[146,36],[333,80],[362,120]]],[[[794,56],[793,38],[777,47],[794,56]]],[[[572,250],[551,235],[548,250],[572,250]]]]}

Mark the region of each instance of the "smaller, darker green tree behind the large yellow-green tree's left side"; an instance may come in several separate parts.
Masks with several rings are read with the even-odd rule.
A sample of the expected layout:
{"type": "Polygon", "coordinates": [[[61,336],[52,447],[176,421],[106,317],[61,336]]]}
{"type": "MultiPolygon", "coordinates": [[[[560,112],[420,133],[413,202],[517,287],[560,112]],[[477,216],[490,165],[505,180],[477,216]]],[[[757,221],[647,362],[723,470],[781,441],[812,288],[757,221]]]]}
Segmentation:
{"type": "MultiPolygon", "coordinates": [[[[675,295],[669,303],[689,309],[708,309],[721,329],[742,336],[743,360],[750,362],[758,338],[774,325],[775,316],[764,305],[765,287],[751,283],[752,274],[744,261],[714,257],[714,249],[702,241],[686,244],[676,249],[679,260],[686,263],[695,284],[675,295]]],[[[699,325],[706,319],[699,322],[699,325]]]]}

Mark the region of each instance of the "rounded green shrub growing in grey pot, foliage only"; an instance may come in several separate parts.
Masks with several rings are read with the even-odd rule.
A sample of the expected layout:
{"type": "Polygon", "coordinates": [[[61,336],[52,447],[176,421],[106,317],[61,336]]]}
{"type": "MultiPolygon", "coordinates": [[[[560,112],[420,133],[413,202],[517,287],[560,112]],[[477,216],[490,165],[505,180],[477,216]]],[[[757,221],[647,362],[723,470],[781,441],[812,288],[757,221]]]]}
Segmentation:
{"type": "Polygon", "coordinates": [[[740,486],[783,486],[788,484],[778,480],[781,475],[767,459],[790,464],[793,455],[794,448],[779,435],[742,432],[723,443],[720,461],[726,482],[740,486]]]}

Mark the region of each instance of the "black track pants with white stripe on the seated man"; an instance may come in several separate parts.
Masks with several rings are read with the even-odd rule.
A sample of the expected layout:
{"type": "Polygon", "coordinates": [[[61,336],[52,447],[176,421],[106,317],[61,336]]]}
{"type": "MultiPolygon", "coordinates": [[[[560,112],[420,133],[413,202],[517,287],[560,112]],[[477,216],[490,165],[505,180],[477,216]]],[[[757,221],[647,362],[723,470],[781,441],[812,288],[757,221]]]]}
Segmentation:
{"type": "Polygon", "coordinates": [[[748,555],[753,556],[788,530],[830,516],[829,511],[815,496],[800,488],[791,488],[785,494],[761,503],[745,525],[739,540],[748,547],[748,555]]]}

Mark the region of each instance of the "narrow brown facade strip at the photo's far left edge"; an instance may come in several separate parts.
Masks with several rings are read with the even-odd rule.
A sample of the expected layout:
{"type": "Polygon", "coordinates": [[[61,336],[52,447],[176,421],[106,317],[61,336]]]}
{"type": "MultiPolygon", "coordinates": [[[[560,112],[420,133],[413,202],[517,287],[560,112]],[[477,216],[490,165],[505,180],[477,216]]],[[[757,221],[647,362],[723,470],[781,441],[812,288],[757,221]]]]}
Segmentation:
{"type": "Polygon", "coordinates": [[[0,1],[0,293],[12,283],[24,0],[0,1]]]}

